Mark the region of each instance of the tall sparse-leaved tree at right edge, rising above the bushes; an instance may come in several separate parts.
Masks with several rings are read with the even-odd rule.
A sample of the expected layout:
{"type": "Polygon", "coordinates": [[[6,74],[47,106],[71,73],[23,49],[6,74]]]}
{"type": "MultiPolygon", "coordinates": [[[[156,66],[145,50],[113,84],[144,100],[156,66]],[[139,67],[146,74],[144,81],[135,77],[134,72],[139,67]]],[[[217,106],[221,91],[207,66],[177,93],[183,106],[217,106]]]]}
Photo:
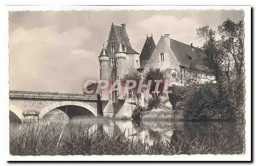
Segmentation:
{"type": "MultiPolygon", "coordinates": [[[[197,34],[204,41],[204,64],[214,72],[219,97],[233,109],[242,108],[244,93],[243,21],[225,20],[218,31],[208,26],[198,28],[197,34]],[[216,39],[216,34],[220,39],[216,39]]],[[[240,111],[241,113],[241,111],[240,111]]],[[[241,114],[240,114],[241,115],[241,114]]]]}

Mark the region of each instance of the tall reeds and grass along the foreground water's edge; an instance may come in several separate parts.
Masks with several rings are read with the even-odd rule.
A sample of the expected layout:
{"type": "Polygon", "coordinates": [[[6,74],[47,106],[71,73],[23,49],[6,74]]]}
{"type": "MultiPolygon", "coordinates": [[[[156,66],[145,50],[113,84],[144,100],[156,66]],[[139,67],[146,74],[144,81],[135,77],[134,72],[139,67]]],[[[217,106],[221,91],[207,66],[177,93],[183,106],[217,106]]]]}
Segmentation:
{"type": "Polygon", "coordinates": [[[152,145],[139,137],[122,134],[109,135],[102,129],[103,120],[72,120],[68,124],[56,122],[11,125],[11,155],[122,155],[122,154],[239,154],[243,147],[229,141],[224,134],[218,138],[200,137],[191,140],[175,136],[156,139],[152,145]],[[89,122],[91,121],[91,122],[89,122]],[[97,124],[94,126],[93,124],[97,124]]]}

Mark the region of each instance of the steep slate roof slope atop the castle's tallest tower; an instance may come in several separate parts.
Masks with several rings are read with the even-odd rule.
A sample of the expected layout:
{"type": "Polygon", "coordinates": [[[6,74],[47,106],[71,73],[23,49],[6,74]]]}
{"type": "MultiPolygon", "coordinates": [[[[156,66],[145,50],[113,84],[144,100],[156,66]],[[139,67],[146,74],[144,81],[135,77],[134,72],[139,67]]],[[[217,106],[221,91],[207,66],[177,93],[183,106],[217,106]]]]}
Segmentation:
{"type": "Polygon", "coordinates": [[[115,34],[116,34],[119,42],[124,43],[124,46],[126,47],[126,53],[127,54],[139,54],[137,51],[133,50],[133,48],[132,48],[128,34],[126,33],[125,23],[123,23],[122,25],[114,25],[114,23],[112,23],[112,27],[115,31],[115,34]]]}

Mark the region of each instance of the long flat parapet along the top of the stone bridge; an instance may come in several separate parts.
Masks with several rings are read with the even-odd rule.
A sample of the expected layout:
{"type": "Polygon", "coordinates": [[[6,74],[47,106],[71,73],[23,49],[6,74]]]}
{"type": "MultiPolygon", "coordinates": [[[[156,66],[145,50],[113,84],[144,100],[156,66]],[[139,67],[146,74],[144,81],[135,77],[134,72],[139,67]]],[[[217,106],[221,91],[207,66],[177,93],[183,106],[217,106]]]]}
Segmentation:
{"type": "Polygon", "coordinates": [[[36,91],[18,91],[10,90],[9,98],[27,98],[27,99],[56,99],[56,100],[97,100],[96,94],[75,94],[58,92],[36,92],[36,91]]]}

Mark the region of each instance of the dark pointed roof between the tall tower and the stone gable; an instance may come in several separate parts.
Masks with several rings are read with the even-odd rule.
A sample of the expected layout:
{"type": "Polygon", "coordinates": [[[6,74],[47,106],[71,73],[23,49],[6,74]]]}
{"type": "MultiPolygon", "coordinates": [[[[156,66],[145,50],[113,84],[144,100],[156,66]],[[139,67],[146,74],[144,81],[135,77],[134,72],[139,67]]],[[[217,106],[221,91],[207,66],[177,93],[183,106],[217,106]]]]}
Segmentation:
{"type": "Polygon", "coordinates": [[[147,37],[144,43],[143,49],[140,53],[140,66],[143,66],[143,61],[150,60],[150,57],[154,50],[156,49],[156,44],[154,42],[153,36],[147,37]]]}

